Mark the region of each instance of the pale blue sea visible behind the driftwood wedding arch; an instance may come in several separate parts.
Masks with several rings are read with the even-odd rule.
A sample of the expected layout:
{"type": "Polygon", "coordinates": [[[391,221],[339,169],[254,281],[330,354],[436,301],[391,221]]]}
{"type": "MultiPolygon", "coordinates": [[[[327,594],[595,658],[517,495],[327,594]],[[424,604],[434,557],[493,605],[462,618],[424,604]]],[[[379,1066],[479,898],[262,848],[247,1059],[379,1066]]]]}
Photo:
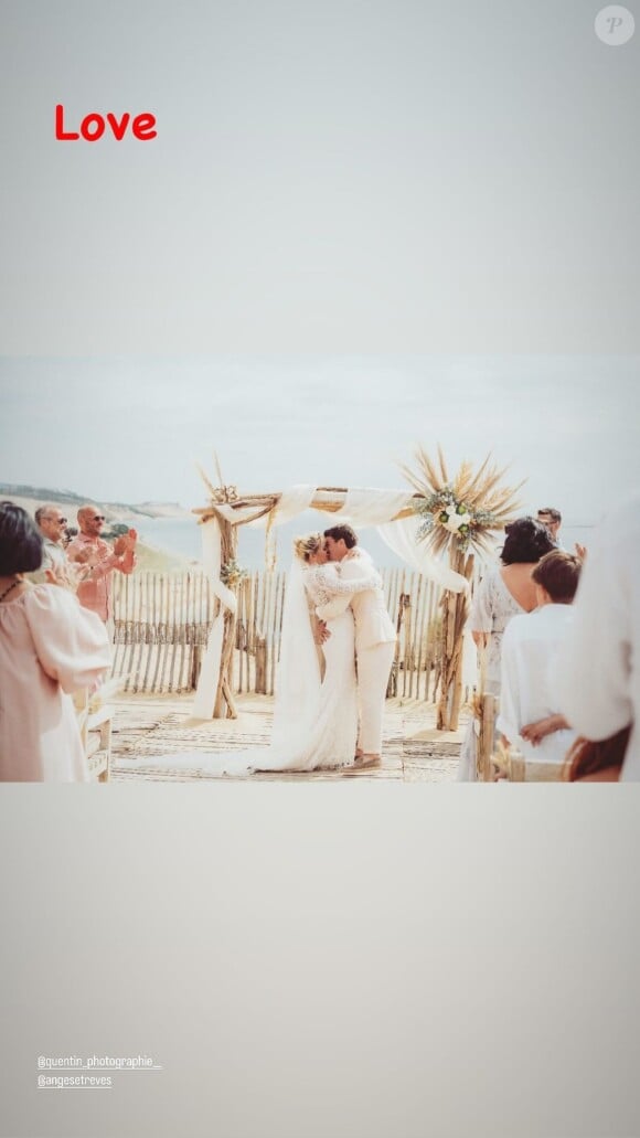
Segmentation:
{"type": "MultiPolygon", "coordinates": [[[[338,520],[338,519],[336,519],[338,520]]],[[[133,523],[140,535],[140,541],[157,550],[184,558],[186,561],[200,561],[202,556],[200,527],[191,518],[144,518],[133,523]]],[[[279,526],[272,530],[276,539],[277,563],[286,568],[291,559],[292,541],[299,534],[325,528],[331,525],[330,514],[318,514],[306,511],[299,518],[279,526]]],[[[573,550],[574,542],[589,546],[593,526],[563,525],[560,539],[566,550],[573,550]]],[[[380,568],[394,568],[402,561],[379,537],[375,528],[363,530],[361,543],[371,553],[380,568]]],[[[265,566],[265,529],[252,526],[240,527],[238,560],[246,569],[261,569],[265,566]]]]}

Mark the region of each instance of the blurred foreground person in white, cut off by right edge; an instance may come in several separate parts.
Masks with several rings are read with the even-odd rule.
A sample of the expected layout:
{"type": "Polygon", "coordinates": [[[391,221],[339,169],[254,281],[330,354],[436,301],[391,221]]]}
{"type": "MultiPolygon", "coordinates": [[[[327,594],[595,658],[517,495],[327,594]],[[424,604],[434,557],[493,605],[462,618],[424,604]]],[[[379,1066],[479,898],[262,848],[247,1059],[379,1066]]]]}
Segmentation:
{"type": "Polygon", "coordinates": [[[640,782],[640,492],[600,523],[584,563],[567,641],[558,654],[558,704],[593,743],[630,728],[623,782],[640,782]]]}

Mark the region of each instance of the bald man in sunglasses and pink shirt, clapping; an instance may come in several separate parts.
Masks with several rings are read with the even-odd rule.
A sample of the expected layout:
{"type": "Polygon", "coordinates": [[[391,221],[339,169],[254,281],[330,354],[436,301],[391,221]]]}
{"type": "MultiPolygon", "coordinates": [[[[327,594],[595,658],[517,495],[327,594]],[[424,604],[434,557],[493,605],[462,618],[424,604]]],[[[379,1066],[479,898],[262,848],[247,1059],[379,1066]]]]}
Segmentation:
{"type": "Polygon", "coordinates": [[[101,536],[105,514],[94,505],[83,505],[77,511],[80,534],[67,547],[69,561],[83,566],[86,576],[77,586],[77,599],[85,609],[91,609],[107,624],[111,618],[111,574],[133,572],[135,567],[135,542],[138,534],[118,537],[109,545],[101,536]]]}

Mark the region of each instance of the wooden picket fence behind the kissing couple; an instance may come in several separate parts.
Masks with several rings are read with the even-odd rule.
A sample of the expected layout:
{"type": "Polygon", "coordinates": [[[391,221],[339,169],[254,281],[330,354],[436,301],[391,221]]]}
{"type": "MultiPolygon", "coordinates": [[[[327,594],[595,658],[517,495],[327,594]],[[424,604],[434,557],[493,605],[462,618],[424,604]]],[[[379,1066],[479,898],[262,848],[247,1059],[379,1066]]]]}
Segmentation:
{"type": "MultiPolygon", "coordinates": [[[[434,700],[441,589],[408,569],[382,570],[387,607],[398,629],[389,694],[434,700]]],[[[114,674],[125,691],[189,692],[218,602],[201,570],[114,575],[114,674]]],[[[286,574],[252,572],[238,596],[236,693],[273,695],[286,574]]]]}

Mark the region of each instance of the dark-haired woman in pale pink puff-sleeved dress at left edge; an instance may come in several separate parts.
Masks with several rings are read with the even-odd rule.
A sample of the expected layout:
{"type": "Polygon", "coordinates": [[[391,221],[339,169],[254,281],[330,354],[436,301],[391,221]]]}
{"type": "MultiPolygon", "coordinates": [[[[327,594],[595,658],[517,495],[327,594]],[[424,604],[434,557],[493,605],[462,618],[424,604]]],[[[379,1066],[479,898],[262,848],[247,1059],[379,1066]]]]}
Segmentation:
{"type": "Polygon", "coordinates": [[[68,589],[32,585],[42,537],[20,506],[0,503],[0,782],[88,782],[70,692],[110,665],[102,621],[68,589]]]}

